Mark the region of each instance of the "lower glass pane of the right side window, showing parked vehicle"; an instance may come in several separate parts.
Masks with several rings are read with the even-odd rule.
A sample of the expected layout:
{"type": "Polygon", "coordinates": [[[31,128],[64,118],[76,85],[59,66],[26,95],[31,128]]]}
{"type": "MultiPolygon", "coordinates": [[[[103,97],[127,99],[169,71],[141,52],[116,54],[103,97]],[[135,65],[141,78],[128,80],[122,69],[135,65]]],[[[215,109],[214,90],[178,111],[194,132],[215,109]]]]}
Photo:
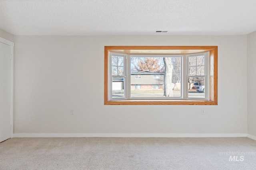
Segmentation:
{"type": "Polygon", "coordinates": [[[188,98],[205,98],[204,77],[188,78],[188,98]]]}

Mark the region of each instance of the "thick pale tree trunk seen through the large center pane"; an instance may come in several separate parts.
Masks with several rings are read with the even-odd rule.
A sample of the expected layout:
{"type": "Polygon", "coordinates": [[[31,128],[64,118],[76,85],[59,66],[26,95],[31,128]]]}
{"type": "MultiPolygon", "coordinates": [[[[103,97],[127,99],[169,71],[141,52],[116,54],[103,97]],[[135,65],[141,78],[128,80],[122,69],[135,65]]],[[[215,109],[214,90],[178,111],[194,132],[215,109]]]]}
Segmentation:
{"type": "Polygon", "coordinates": [[[164,66],[165,66],[165,74],[164,74],[164,96],[165,97],[173,97],[172,92],[172,58],[164,57],[164,66]]]}

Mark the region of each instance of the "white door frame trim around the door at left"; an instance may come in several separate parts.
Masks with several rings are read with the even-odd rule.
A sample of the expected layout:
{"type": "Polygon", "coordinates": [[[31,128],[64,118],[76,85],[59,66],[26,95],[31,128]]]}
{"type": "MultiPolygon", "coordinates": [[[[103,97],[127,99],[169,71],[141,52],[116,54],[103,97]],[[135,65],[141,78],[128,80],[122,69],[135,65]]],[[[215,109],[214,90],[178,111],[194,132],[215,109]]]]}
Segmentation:
{"type": "Polygon", "coordinates": [[[9,41],[7,39],[4,39],[2,37],[0,37],[0,43],[4,43],[6,45],[9,45],[11,47],[11,56],[10,56],[10,60],[11,60],[11,108],[10,108],[10,135],[11,138],[13,137],[13,51],[14,51],[14,42],[9,41]]]}

